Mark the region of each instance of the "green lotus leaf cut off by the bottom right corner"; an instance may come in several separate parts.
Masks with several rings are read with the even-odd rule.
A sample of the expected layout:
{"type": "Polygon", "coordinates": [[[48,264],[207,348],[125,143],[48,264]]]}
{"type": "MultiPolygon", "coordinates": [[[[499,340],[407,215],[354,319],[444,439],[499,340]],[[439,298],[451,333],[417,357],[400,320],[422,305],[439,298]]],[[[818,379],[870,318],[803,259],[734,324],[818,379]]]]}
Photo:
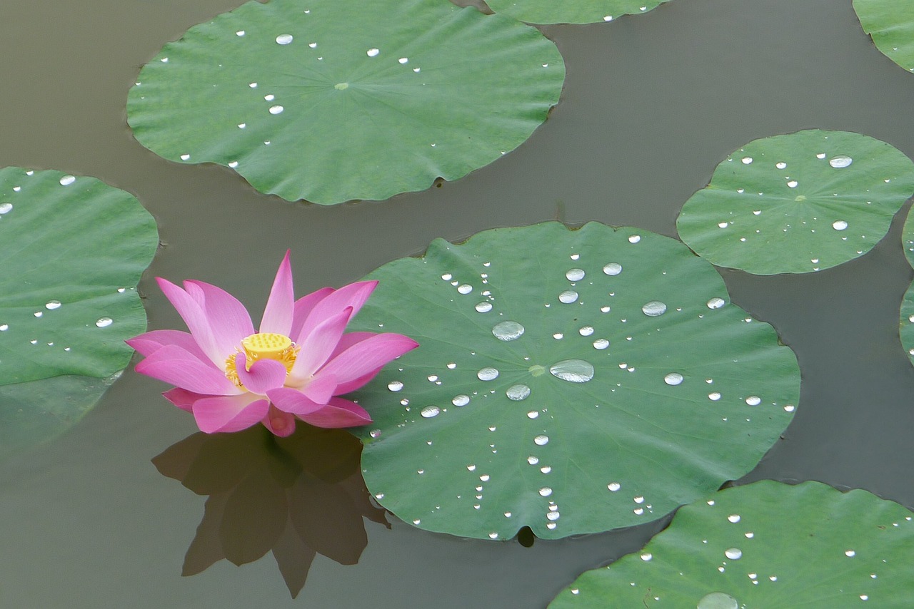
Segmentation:
{"type": "Polygon", "coordinates": [[[904,609],[914,598],[911,516],[819,482],[728,488],[680,509],[643,551],[584,573],[549,607],[904,609]]]}

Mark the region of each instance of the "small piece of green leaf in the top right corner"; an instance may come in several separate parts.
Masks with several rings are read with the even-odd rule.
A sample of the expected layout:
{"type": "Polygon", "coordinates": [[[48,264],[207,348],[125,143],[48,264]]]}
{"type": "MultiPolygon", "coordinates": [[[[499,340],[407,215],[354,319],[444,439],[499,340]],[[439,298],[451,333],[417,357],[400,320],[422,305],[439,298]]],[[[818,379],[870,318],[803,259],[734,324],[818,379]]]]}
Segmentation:
{"type": "Polygon", "coordinates": [[[883,55],[914,71],[914,3],[909,0],[854,0],[863,31],[883,55]]]}

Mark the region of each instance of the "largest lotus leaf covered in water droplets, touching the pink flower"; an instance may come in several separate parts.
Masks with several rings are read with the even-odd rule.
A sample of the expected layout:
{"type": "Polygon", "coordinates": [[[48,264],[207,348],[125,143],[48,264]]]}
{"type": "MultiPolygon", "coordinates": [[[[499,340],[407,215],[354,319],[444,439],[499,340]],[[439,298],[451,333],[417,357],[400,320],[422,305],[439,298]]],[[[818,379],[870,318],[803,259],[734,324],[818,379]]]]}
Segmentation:
{"type": "Polygon", "coordinates": [[[420,347],[357,393],[362,471],[423,529],[558,538],[654,520],[788,425],[793,352],[706,261],[634,228],[494,229],[369,275],[356,328],[420,347]]]}

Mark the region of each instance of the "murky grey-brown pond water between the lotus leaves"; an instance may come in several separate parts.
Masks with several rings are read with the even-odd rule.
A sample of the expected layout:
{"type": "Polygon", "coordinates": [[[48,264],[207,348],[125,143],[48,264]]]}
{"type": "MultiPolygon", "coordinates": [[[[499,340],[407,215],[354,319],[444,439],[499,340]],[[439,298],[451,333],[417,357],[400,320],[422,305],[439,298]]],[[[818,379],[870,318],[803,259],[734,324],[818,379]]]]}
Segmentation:
{"type": "MultiPolygon", "coordinates": [[[[776,133],[858,131],[914,157],[914,75],[873,47],[851,0],[672,0],[611,24],[543,27],[567,64],[561,102],[496,163],[385,202],[290,204],[225,168],[169,163],[125,123],[140,66],[187,27],[239,4],[0,8],[0,166],[93,175],[138,196],[164,244],[140,285],[151,329],[181,325],[154,276],[209,281],[257,311],[288,247],[303,294],[418,254],[434,237],[494,226],[598,220],[675,236],[680,206],[717,163],[776,133]]],[[[872,252],[841,267],[721,271],[734,302],[771,322],[802,369],[792,425],[745,480],[815,479],[914,506],[914,367],[898,341],[912,277],[900,247],[907,209],[872,252]]],[[[388,515],[389,529],[365,520],[356,565],[318,555],[295,600],[271,556],[181,577],[205,498],[151,463],[196,431],[164,389],[129,369],[80,425],[0,464],[0,605],[537,607],[664,526],[525,547],[434,534],[388,515]]],[[[315,499],[303,518],[332,528],[333,509],[315,499]]],[[[228,531],[239,540],[259,526],[239,522],[228,531]]],[[[356,532],[331,536],[357,538],[353,523],[356,532]]]]}

